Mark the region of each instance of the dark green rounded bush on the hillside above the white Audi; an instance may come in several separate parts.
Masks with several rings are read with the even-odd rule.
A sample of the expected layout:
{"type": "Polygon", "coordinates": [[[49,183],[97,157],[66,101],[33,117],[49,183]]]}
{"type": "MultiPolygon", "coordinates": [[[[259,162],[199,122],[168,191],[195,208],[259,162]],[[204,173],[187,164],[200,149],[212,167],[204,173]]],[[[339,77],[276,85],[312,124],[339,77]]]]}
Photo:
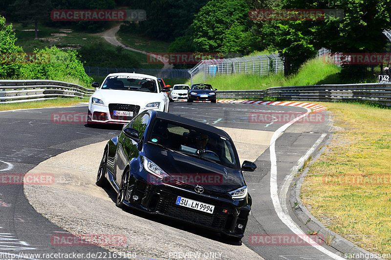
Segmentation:
{"type": "Polygon", "coordinates": [[[137,68],[139,62],[124,48],[108,48],[101,42],[94,45],[84,45],[79,51],[81,60],[86,61],[86,66],[137,68]]]}

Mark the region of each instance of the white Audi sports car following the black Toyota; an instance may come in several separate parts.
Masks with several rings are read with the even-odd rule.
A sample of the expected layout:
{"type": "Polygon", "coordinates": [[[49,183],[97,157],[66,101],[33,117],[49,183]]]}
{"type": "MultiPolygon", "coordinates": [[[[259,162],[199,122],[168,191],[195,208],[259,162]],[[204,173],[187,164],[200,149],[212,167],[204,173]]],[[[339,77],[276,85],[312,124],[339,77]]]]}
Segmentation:
{"type": "MultiPolygon", "coordinates": [[[[98,83],[92,83],[98,87],[98,83]]],[[[87,123],[127,123],[145,110],[169,111],[169,88],[136,73],[109,74],[89,99],[87,123]]]]}

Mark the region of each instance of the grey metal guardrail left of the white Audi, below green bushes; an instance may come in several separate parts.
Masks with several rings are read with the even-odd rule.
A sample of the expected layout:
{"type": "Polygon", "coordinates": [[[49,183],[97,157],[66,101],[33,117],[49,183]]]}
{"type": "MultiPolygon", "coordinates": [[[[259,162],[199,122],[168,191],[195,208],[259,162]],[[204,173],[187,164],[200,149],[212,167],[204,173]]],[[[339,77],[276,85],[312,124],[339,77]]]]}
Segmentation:
{"type": "Polygon", "coordinates": [[[95,89],[57,80],[0,80],[0,103],[85,98],[94,91],[95,89]]]}

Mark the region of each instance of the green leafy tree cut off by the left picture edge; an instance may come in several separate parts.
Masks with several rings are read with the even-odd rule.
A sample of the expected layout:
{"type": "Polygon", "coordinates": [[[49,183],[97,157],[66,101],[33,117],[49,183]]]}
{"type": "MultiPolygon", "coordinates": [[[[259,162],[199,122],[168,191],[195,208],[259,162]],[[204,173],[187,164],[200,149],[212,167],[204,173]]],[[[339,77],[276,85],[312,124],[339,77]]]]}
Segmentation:
{"type": "Polygon", "coordinates": [[[0,78],[9,78],[19,73],[21,64],[12,60],[4,62],[7,55],[15,54],[17,57],[23,55],[22,47],[15,46],[16,40],[12,24],[5,26],[5,18],[0,16],[0,54],[3,56],[0,63],[0,78]]]}

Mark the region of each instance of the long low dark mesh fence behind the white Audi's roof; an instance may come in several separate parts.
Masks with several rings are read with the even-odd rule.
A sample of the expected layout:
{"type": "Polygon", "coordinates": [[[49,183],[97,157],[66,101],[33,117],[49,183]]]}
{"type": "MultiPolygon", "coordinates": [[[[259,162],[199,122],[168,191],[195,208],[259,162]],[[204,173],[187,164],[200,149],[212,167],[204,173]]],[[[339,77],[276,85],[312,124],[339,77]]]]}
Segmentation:
{"type": "Polygon", "coordinates": [[[143,68],[107,68],[85,66],[84,70],[88,76],[107,76],[110,73],[127,72],[152,75],[158,78],[190,78],[186,69],[143,69],[143,68]]]}

